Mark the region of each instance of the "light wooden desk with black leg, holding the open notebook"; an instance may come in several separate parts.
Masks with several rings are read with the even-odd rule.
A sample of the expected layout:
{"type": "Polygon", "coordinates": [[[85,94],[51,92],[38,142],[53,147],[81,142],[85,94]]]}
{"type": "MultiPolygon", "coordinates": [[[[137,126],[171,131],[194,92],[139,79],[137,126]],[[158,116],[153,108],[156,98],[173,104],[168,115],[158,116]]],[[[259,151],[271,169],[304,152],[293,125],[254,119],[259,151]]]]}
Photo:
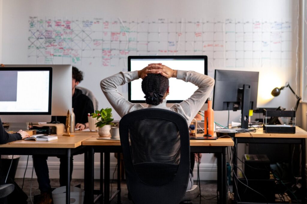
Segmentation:
{"type": "MultiPolygon", "coordinates": [[[[49,142],[34,140],[17,140],[7,144],[0,145],[0,155],[48,155],[48,156],[66,156],[67,157],[67,185],[66,185],[66,203],[70,203],[70,157],[73,154],[85,150],[82,141],[91,138],[91,134],[77,132],[75,137],[65,137],[57,135],[58,139],[49,142]]],[[[86,152],[86,151],[85,151],[86,152]]],[[[87,152],[85,154],[87,159],[87,152]]],[[[86,175],[85,175],[86,176],[86,175]]]]}

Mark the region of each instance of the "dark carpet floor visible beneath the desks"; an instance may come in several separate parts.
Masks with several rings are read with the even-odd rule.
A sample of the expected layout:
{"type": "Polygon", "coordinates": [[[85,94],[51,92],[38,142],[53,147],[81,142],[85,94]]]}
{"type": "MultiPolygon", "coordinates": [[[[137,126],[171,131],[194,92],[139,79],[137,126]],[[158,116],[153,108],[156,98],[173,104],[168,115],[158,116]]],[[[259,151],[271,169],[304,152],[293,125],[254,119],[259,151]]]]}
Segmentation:
{"type": "MultiPolygon", "coordinates": [[[[51,180],[51,186],[52,187],[59,187],[59,179],[50,179],[51,180]]],[[[21,187],[22,186],[22,179],[18,178],[15,179],[16,183],[21,187]]],[[[31,184],[31,179],[26,178],[24,182],[24,187],[23,191],[29,196],[28,198],[28,203],[31,203],[30,199],[30,184],[31,184]]],[[[81,184],[81,188],[84,188],[84,179],[72,179],[71,185],[77,185],[81,184]]],[[[116,180],[113,181],[113,184],[111,185],[113,192],[115,192],[116,189],[116,180]]],[[[110,186],[110,187],[111,187],[110,186]]],[[[200,200],[200,196],[198,196],[196,199],[192,201],[194,204],[201,204],[201,203],[206,203],[206,204],[213,204],[216,203],[216,181],[201,181],[200,182],[200,191],[201,195],[203,196],[200,200]],[[210,199],[212,198],[212,199],[210,199]],[[206,200],[210,199],[210,200],[206,200]]],[[[95,180],[94,182],[94,189],[99,189],[99,180],[95,180]]],[[[110,188],[111,190],[111,188],[110,188]]],[[[126,182],[122,181],[121,183],[121,203],[122,204],[132,204],[132,202],[128,199],[128,191],[127,191],[127,186],[126,182]]],[[[37,179],[33,179],[32,181],[32,191],[31,191],[31,196],[32,196],[32,201],[33,201],[33,195],[39,194],[40,191],[38,189],[38,183],[37,179]]],[[[95,196],[96,197],[96,196],[95,196]]],[[[100,203],[97,201],[96,203],[100,203]]],[[[111,204],[117,203],[117,197],[115,197],[111,204]]]]}

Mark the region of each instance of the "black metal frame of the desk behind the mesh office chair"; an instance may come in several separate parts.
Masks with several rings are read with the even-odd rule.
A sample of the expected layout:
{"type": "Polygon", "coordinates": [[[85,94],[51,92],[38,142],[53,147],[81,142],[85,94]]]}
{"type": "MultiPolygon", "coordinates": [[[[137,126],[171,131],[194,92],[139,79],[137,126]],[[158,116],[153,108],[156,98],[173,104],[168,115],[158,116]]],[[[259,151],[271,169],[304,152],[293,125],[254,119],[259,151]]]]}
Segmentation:
{"type": "MultiPolygon", "coordinates": [[[[227,175],[226,175],[226,155],[227,155],[227,147],[228,146],[191,146],[190,151],[192,153],[218,153],[218,188],[217,194],[219,203],[227,203],[227,175]]],[[[101,146],[88,146],[88,156],[85,162],[87,181],[85,182],[85,193],[86,193],[86,201],[87,203],[94,203],[94,153],[104,153],[104,177],[103,177],[103,157],[100,157],[100,193],[99,198],[102,200],[104,204],[109,204],[110,201],[117,195],[117,203],[120,204],[120,171],[117,172],[117,191],[115,194],[109,198],[110,195],[110,153],[121,153],[122,147],[119,145],[101,145],[101,146]],[[104,188],[102,185],[102,181],[104,181],[104,188]]],[[[117,158],[118,166],[120,169],[120,157],[117,158]]],[[[101,202],[102,203],[102,202],[101,202]]]]}

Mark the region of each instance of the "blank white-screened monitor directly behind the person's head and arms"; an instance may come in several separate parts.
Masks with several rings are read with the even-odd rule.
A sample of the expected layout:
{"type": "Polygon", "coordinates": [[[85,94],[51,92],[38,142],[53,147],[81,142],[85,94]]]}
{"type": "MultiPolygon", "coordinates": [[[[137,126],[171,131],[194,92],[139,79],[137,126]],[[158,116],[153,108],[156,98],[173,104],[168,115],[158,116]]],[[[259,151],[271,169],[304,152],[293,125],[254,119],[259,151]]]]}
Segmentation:
{"type": "MultiPolygon", "coordinates": [[[[207,56],[128,56],[128,71],[142,70],[150,63],[162,63],[176,70],[192,70],[208,74],[207,56]]],[[[145,103],[142,91],[142,80],[128,84],[128,100],[132,103],[145,103]]],[[[167,103],[180,103],[188,99],[197,89],[192,83],[186,83],[174,78],[169,79],[170,93],[167,103]]]]}

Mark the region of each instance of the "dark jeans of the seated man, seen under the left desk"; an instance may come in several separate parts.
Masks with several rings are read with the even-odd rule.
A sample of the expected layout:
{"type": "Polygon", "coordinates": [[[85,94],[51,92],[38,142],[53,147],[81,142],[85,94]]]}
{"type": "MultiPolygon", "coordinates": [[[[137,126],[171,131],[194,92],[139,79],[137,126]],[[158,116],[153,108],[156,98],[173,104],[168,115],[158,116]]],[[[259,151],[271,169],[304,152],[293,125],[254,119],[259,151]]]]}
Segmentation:
{"type": "MultiPolygon", "coordinates": [[[[67,183],[67,157],[60,158],[60,186],[67,183]]],[[[41,192],[51,192],[49,169],[47,164],[48,156],[33,155],[33,165],[37,176],[38,188],[41,192]]],[[[70,181],[72,179],[73,158],[70,158],[70,181]]]]}

